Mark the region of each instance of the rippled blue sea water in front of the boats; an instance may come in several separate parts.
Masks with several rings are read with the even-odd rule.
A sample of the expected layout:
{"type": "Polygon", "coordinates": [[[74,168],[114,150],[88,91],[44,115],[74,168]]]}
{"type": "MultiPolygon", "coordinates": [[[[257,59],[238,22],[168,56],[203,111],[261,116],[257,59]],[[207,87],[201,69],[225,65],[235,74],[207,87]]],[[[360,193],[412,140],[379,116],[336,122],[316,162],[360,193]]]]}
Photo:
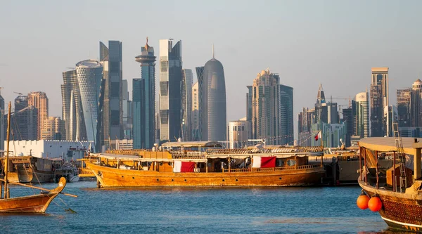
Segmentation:
{"type": "Polygon", "coordinates": [[[390,233],[378,213],[357,208],[359,187],[106,190],[81,181],[65,193],[79,197],[59,195],[47,214],[0,215],[0,233],[390,233]]]}

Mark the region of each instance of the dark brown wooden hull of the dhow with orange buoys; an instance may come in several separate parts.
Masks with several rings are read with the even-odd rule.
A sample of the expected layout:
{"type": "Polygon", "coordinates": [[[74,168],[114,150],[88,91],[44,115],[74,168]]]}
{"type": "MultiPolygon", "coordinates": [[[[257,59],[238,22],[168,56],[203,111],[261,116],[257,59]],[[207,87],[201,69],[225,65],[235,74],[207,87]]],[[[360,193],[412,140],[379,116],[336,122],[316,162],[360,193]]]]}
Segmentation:
{"type": "Polygon", "coordinates": [[[422,233],[422,195],[418,195],[418,190],[410,194],[397,193],[367,186],[363,181],[359,181],[359,186],[369,197],[380,197],[383,207],[379,213],[390,228],[422,233]]]}

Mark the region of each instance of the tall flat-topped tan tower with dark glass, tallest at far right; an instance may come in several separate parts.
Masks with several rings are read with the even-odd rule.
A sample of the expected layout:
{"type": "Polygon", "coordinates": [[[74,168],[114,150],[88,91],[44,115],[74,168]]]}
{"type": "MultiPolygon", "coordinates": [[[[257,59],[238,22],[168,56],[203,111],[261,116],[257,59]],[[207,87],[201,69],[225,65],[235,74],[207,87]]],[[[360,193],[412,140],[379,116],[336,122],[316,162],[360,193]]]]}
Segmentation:
{"type": "Polygon", "coordinates": [[[384,136],[386,133],[383,112],[388,103],[388,67],[371,69],[371,136],[384,136]]]}

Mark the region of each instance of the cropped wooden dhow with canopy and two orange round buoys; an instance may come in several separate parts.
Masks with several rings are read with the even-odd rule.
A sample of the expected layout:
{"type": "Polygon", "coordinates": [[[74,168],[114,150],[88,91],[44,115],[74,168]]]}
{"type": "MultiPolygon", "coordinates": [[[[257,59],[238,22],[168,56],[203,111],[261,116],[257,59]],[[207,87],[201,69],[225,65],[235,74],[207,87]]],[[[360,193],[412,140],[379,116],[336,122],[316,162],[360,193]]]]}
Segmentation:
{"type": "Polygon", "coordinates": [[[400,138],[395,131],[395,138],[363,138],[359,147],[364,169],[358,207],[379,212],[390,228],[422,233],[422,138],[400,138]],[[378,169],[380,157],[392,157],[393,166],[378,169]]]}

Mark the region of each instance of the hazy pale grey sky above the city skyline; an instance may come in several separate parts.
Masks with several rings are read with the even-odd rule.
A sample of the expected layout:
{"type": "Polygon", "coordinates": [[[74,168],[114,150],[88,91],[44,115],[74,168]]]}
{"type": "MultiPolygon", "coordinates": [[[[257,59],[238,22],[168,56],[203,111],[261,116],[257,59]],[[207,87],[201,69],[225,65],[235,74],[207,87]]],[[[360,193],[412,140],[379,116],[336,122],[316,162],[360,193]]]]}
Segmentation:
{"type": "MultiPolygon", "coordinates": [[[[134,57],[149,37],[182,40],[184,68],[212,57],[224,65],[227,120],[245,116],[245,93],[270,68],[294,89],[297,114],[312,108],[319,83],[339,105],[390,67],[396,89],[421,77],[422,1],[6,1],[0,0],[0,86],[6,101],[45,91],[61,116],[66,67],[98,58],[98,41],[120,40],[123,79],[140,77],[134,57]]],[[[158,63],[156,81],[159,79],[158,63]]],[[[196,79],[196,78],[195,78],[196,79]]],[[[132,91],[130,93],[132,97],[132,91]]],[[[132,98],[131,98],[132,99],[132,98]]]]}

